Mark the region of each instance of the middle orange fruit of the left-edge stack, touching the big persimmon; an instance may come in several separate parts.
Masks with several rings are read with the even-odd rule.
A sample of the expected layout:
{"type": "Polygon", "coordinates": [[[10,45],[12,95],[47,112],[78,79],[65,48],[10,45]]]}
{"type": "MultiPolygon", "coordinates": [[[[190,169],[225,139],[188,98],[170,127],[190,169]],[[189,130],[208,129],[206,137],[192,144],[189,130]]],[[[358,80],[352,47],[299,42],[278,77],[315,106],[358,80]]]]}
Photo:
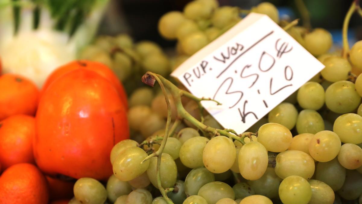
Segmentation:
{"type": "Polygon", "coordinates": [[[35,163],[34,137],[34,117],[18,114],[0,121],[0,163],[4,170],[18,163],[35,163]]]}

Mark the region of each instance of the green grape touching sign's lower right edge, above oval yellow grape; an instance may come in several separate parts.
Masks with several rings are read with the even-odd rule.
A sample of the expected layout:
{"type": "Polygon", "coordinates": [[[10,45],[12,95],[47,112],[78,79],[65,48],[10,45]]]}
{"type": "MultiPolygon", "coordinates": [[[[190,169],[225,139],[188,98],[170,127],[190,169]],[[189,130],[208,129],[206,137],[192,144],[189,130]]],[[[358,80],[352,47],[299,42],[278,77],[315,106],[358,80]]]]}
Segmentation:
{"type": "Polygon", "coordinates": [[[270,123],[278,123],[291,130],[298,118],[298,111],[293,104],[282,102],[277,105],[268,114],[268,121],[270,123]]]}

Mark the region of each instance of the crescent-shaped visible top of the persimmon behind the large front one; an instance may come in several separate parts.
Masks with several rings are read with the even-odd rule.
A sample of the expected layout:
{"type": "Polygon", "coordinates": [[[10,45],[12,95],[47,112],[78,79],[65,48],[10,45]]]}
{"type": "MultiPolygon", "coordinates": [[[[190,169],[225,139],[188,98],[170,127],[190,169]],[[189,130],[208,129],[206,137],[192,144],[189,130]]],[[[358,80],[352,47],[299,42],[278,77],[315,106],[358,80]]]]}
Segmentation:
{"type": "Polygon", "coordinates": [[[76,69],[87,69],[92,70],[93,72],[96,72],[97,74],[101,75],[102,77],[108,79],[112,83],[112,85],[117,89],[119,95],[121,96],[122,102],[127,108],[127,94],[126,91],[117,76],[113,73],[111,69],[108,68],[108,66],[100,63],[100,62],[94,62],[94,61],[88,61],[88,60],[77,60],[69,62],[68,64],[65,64],[63,66],[60,66],[54,72],[52,72],[48,78],[46,79],[45,83],[43,84],[41,94],[48,88],[48,86],[55,81],[57,78],[62,76],[63,74],[66,74],[72,70],[76,69]]]}

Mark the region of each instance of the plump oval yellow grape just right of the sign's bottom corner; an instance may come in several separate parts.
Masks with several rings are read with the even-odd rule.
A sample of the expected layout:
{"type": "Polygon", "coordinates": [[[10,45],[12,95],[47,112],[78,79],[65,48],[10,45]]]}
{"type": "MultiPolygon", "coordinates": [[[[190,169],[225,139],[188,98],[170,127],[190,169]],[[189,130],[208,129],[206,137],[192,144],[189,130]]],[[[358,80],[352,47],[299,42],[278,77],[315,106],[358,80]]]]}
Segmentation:
{"type": "Polygon", "coordinates": [[[288,128],[278,123],[266,123],[259,128],[258,142],[266,150],[282,152],[288,149],[292,141],[292,134],[288,128]]]}

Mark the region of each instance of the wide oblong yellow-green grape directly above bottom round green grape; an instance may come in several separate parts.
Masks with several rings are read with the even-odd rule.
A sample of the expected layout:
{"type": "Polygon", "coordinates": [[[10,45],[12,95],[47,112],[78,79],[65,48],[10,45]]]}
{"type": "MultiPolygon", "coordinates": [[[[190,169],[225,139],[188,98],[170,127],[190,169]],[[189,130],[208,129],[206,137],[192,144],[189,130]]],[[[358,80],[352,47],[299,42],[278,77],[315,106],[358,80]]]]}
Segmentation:
{"type": "Polygon", "coordinates": [[[308,180],[314,174],[314,160],[306,152],[287,150],[279,153],[275,160],[275,173],[282,179],[296,175],[308,180]]]}

